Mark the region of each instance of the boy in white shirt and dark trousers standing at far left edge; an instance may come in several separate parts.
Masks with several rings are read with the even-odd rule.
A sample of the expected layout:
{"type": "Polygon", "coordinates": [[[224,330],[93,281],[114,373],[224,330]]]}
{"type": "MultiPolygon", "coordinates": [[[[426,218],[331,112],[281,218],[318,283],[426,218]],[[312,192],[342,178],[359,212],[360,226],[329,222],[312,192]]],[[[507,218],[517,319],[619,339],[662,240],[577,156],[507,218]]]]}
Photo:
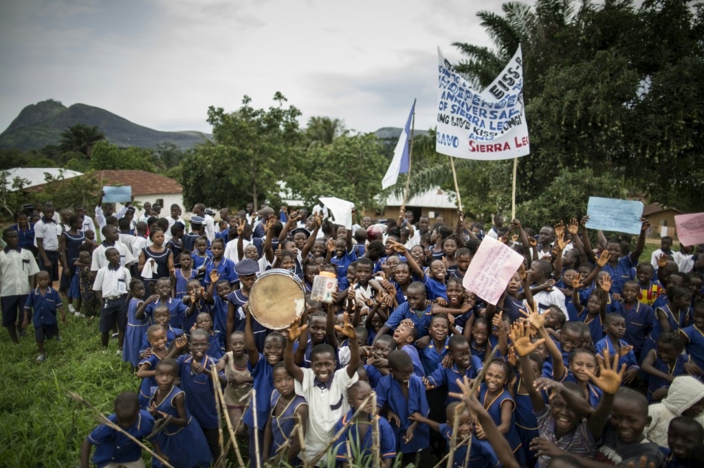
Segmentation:
{"type": "MultiPolygon", "coordinates": [[[[2,326],[7,328],[13,343],[18,343],[18,314],[27,302],[27,294],[34,287],[34,275],[39,266],[34,261],[30,250],[19,247],[20,235],[14,229],[3,231],[3,240],[7,247],[0,250],[0,308],[2,308],[2,326]]],[[[22,321],[20,320],[20,323],[22,321]]]]}

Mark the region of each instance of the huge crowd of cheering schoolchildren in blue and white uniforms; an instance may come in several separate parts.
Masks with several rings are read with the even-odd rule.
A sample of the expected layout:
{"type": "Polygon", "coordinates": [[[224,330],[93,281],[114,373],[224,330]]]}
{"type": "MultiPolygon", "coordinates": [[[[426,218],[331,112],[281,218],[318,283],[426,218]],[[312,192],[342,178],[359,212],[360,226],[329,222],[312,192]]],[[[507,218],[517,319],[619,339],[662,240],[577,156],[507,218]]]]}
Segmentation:
{"type": "Polygon", "coordinates": [[[144,466],[126,434],[149,439],[152,466],[214,463],[218,387],[251,466],[704,466],[704,245],[662,238],[641,263],[645,219],[635,245],[600,231],[592,247],[587,216],[537,234],[495,216],[486,235],[524,262],[487,304],[463,287],[484,233],[462,212],[454,228],[401,212],[348,229],[324,209],[95,211],[23,207],[0,252],[14,342],[31,323],[44,361],[65,300],[141,379],[83,467],[92,447],[99,467],[144,466]],[[306,292],[284,330],[249,307],[271,268],[306,292]],[[338,282],[325,303],[310,297],[322,272],[338,282]]]}

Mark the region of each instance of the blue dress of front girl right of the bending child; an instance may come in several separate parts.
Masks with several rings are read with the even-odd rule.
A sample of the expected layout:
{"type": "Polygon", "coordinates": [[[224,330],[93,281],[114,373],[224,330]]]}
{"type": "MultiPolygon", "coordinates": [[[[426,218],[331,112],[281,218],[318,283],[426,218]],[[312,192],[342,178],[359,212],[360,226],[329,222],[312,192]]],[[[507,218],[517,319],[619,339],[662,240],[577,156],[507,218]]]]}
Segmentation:
{"type": "MultiPolygon", "coordinates": [[[[149,405],[156,402],[157,387],[151,388],[149,405]]],[[[177,386],[172,386],[171,391],[166,398],[156,406],[157,417],[160,420],[162,417],[172,416],[178,417],[176,405],[173,399],[178,394],[184,392],[177,386]]],[[[188,424],[184,427],[177,427],[174,424],[168,424],[163,431],[156,436],[156,441],[161,446],[161,451],[169,457],[169,463],[174,468],[193,468],[193,467],[209,467],[213,461],[213,455],[210,454],[210,447],[203,431],[194,421],[188,410],[188,396],[186,396],[186,420],[188,424]]],[[[161,464],[156,458],[151,459],[151,466],[161,468],[161,464]]]]}

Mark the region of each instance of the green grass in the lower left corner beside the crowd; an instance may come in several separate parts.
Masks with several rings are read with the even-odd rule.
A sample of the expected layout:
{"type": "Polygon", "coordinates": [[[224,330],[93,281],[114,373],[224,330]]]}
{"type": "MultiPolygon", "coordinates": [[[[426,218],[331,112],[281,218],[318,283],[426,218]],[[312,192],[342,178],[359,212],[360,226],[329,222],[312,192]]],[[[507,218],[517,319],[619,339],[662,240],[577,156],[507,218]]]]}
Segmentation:
{"type": "Polygon", "coordinates": [[[65,396],[66,391],[75,391],[109,414],[115,396],[139,389],[139,379],[115,353],[116,342],[103,354],[96,319],[68,320],[68,326],[59,324],[61,342],[44,343],[42,364],[36,362],[31,326],[19,345],[10,341],[6,330],[1,332],[0,466],[77,466],[82,441],[97,423],[87,408],[65,396]]]}

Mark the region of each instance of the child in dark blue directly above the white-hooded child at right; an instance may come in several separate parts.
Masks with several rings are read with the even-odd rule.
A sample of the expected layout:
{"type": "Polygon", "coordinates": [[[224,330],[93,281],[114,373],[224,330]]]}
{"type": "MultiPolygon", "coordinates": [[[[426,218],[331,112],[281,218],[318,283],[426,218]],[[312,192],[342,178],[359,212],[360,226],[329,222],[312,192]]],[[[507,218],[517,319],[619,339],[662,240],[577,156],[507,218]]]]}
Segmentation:
{"type": "Polygon", "coordinates": [[[683,354],[684,342],[678,332],[664,332],[658,338],[658,346],[650,349],[641,369],[648,375],[648,403],[660,401],[667,396],[672,380],[678,375],[686,375],[691,358],[683,354]]]}

